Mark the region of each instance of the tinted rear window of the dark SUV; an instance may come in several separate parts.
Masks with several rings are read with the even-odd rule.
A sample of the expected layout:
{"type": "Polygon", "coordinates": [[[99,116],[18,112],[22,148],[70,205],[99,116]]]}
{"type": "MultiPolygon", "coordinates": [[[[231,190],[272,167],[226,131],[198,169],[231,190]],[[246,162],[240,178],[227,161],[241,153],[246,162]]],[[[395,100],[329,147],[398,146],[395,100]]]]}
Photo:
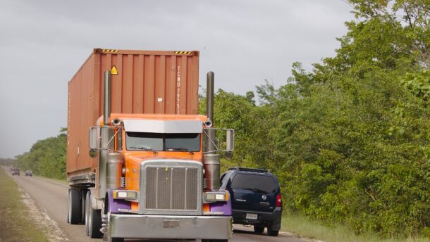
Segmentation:
{"type": "Polygon", "coordinates": [[[256,174],[236,174],[232,183],[232,189],[247,189],[260,193],[274,193],[276,184],[273,178],[256,174]]]}

